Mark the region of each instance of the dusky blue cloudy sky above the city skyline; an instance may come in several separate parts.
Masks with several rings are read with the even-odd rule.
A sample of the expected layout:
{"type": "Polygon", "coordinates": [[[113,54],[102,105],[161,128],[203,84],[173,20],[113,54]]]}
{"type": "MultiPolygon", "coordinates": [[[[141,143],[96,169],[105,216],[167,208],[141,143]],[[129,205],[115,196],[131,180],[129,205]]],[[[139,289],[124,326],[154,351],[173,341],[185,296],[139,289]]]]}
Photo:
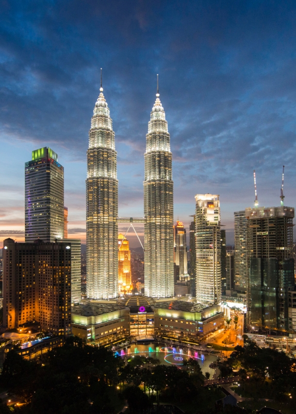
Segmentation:
{"type": "MultiPolygon", "coordinates": [[[[65,167],[72,235],[83,239],[88,130],[111,110],[119,214],[143,216],[145,136],[156,74],[173,153],[175,219],[196,193],[221,219],[296,202],[295,1],[0,1],[0,234],[24,228],[24,162],[50,146],[65,167]],[[78,230],[75,230],[78,229],[78,230]]],[[[232,242],[231,231],[229,242],[232,242]]]]}

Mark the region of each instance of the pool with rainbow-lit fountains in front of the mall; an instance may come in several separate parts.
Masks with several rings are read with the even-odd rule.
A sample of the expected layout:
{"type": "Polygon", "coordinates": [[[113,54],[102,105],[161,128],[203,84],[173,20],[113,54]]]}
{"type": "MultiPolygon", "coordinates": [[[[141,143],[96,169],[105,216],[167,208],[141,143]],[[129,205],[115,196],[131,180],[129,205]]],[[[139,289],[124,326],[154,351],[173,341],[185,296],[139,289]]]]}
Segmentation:
{"type": "Polygon", "coordinates": [[[149,345],[130,345],[123,350],[116,351],[115,355],[121,356],[124,359],[132,358],[135,355],[144,355],[157,358],[161,364],[164,365],[177,365],[182,366],[183,361],[188,358],[194,358],[198,361],[203,374],[209,372],[210,378],[213,378],[214,369],[209,365],[217,360],[214,355],[204,355],[202,351],[196,351],[188,348],[161,346],[162,344],[149,344],[149,345]]]}

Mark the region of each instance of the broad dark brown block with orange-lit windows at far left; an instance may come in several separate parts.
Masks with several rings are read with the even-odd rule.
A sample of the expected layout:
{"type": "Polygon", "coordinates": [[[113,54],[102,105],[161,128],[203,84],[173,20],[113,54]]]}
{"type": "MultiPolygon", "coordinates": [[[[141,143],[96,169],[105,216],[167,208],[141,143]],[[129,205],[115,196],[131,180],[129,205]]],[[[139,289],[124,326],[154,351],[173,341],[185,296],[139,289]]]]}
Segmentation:
{"type": "Polygon", "coordinates": [[[37,321],[43,331],[71,334],[71,244],[3,242],[3,326],[37,321]]]}

